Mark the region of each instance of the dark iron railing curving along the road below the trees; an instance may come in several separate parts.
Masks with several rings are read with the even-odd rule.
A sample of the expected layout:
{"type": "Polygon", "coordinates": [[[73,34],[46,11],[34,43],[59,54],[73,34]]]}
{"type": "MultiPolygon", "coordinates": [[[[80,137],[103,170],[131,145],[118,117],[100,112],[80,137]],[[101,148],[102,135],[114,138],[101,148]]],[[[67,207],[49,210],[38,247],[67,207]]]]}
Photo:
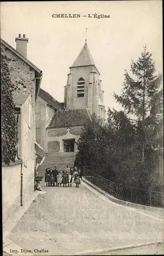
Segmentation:
{"type": "Polygon", "coordinates": [[[164,206],[161,192],[119,184],[107,180],[93,171],[92,166],[85,166],[83,177],[115,198],[154,207],[164,206]]]}

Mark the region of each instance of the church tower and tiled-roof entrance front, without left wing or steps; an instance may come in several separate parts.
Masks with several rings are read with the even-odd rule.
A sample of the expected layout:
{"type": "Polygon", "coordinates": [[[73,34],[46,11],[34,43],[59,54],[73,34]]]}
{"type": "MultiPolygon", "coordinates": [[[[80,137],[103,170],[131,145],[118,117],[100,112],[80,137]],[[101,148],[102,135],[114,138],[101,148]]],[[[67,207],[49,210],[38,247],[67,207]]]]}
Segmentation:
{"type": "Polygon", "coordinates": [[[54,113],[47,127],[49,152],[77,152],[77,141],[85,120],[95,113],[105,119],[103,91],[87,42],[70,67],[64,87],[65,111],[54,113]]]}

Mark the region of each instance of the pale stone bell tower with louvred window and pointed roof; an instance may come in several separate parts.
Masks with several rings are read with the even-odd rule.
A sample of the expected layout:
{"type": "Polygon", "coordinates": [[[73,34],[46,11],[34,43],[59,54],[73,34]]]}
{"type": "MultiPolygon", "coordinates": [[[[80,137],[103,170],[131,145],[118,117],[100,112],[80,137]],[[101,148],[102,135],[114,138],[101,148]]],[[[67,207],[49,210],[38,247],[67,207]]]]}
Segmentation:
{"type": "Polygon", "coordinates": [[[67,110],[87,108],[91,115],[95,113],[105,118],[99,75],[86,40],[84,47],[70,67],[64,90],[64,107],[67,110]]]}

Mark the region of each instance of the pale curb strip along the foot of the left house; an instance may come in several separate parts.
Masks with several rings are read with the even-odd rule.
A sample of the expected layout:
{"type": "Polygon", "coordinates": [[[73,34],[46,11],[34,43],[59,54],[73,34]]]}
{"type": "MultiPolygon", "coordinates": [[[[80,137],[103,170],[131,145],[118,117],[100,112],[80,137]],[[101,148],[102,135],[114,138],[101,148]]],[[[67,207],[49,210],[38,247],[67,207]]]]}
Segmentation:
{"type": "Polygon", "coordinates": [[[9,219],[3,226],[3,240],[9,236],[11,230],[16,226],[18,221],[23,217],[26,210],[29,209],[32,202],[37,198],[39,194],[45,194],[46,191],[34,191],[28,198],[25,199],[26,204],[21,206],[19,210],[16,212],[16,214],[12,217],[12,219],[9,219]]]}

